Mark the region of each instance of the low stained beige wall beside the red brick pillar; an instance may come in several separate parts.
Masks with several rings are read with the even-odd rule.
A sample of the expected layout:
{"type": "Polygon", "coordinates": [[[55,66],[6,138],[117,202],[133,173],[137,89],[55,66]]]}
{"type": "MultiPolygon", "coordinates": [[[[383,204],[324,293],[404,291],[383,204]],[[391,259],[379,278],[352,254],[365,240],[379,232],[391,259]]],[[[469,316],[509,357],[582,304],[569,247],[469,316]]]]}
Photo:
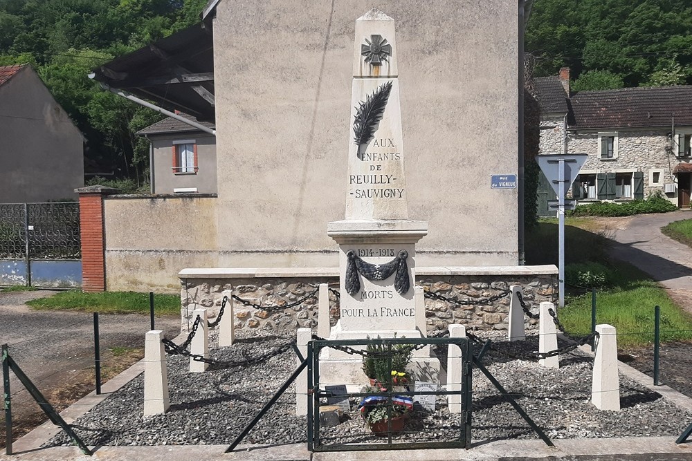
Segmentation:
{"type": "Polygon", "coordinates": [[[183,267],[217,267],[214,197],[104,198],[106,289],[178,293],[183,267]]]}

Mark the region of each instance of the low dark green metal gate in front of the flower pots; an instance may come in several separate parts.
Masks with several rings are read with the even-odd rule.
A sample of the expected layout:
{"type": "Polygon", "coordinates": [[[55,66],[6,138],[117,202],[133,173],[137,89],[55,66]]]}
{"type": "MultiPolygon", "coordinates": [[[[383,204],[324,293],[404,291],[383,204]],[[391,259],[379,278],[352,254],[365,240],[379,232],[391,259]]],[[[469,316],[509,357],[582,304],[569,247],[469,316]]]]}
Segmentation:
{"type": "MultiPolygon", "coordinates": [[[[390,359],[390,372],[391,359],[390,359]]],[[[471,444],[471,372],[473,363],[473,350],[470,341],[466,337],[444,337],[444,338],[392,338],[392,339],[353,339],[353,340],[315,340],[308,344],[308,383],[307,392],[308,398],[308,428],[307,439],[308,449],[310,451],[363,451],[363,450],[392,450],[392,449],[444,449],[444,448],[466,448],[471,444]],[[388,408],[388,424],[386,430],[383,431],[385,437],[369,433],[363,424],[363,433],[349,433],[347,435],[339,433],[334,437],[325,437],[325,429],[320,426],[320,405],[325,403],[328,397],[332,397],[331,392],[320,382],[320,352],[326,348],[337,349],[348,354],[361,357],[367,354],[364,351],[367,344],[379,344],[383,346],[383,350],[388,351],[390,355],[401,347],[410,347],[412,350],[421,348],[428,344],[432,346],[449,346],[454,345],[461,352],[461,373],[457,377],[449,377],[448,382],[461,383],[461,388],[457,391],[410,391],[410,389],[401,390],[395,389],[393,386],[388,386],[386,391],[378,391],[372,388],[363,388],[361,392],[347,392],[340,394],[347,397],[349,400],[358,397],[374,397],[381,399],[386,403],[388,408]],[[450,424],[447,426],[449,431],[446,440],[439,440],[440,431],[445,429],[439,427],[431,427],[429,430],[435,432],[430,436],[430,440],[426,440],[427,435],[422,433],[425,424],[417,424],[415,418],[424,417],[424,411],[416,410],[414,415],[404,424],[404,430],[401,433],[394,433],[392,430],[391,408],[395,399],[401,397],[415,397],[416,395],[459,395],[461,399],[462,413],[459,415],[450,415],[450,424]],[[408,431],[406,430],[408,426],[408,431]],[[329,440],[337,440],[335,443],[327,443],[329,440]]],[[[363,375],[365,376],[365,375],[363,375]]],[[[361,402],[361,406],[363,402],[361,402]]],[[[349,406],[350,408],[350,406],[349,406]]],[[[360,414],[359,411],[356,414],[360,414]]],[[[334,431],[343,431],[340,426],[335,426],[334,431]]]]}

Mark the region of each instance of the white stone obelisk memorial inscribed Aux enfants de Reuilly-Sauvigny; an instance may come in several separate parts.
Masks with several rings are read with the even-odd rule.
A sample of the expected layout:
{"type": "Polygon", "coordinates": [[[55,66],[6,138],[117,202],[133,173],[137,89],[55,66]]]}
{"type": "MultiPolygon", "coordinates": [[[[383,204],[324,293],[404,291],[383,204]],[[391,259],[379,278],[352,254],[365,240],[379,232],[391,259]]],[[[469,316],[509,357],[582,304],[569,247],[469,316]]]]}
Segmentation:
{"type": "MultiPolygon", "coordinates": [[[[398,69],[394,20],[372,9],[356,20],[346,216],[327,228],[340,249],[341,314],[330,339],[425,336],[416,327],[415,243],[428,223],[408,219],[398,69]]],[[[359,364],[341,365],[341,383],[362,375],[359,364]]]]}

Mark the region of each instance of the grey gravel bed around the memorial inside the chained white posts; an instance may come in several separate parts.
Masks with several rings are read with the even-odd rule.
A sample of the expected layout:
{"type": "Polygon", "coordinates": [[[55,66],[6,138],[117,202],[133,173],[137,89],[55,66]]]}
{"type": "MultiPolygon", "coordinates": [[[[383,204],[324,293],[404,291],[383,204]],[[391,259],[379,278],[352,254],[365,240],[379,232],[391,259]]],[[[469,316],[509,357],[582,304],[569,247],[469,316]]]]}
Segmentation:
{"type": "MultiPolygon", "coordinates": [[[[212,357],[239,361],[264,355],[293,339],[282,332],[255,331],[231,348],[212,348],[212,357]]],[[[590,404],[591,359],[573,352],[561,357],[558,370],[536,361],[511,360],[514,353],[536,350],[537,339],[497,344],[484,361],[522,408],[550,438],[608,438],[679,435],[692,415],[626,377],[620,378],[621,411],[597,411],[590,404]]],[[[444,360],[443,360],[444,363],[444,360]]],[[[143,375],[132,380],[75,422],[90,445],[230,444],[261,406],[295,369],[293,352],[273,355],[252,366],[210,366],[206,373],[188,373],[188,361],[169,357],[171,408],[166,415],[143,418],[143,375]]],[[[505,402],[494,386],[473,372],[473,440],[537,438],[528,424],[505,402]]],[[[291,386],[248,434],[244,443],[293,443],[307,440],[305,417],[295,416],[291,386]]],[[[356,402],[346,420],[322,428],[322,443],[382,442],[358,419],[356,402]]],[[[439,397],[437,411],[416,411],[396,442],[453,440],[459,437],[459,416],[450,415],[439,397]]],[[[64,434],[48,444],[70,444],[64,434]]]]}

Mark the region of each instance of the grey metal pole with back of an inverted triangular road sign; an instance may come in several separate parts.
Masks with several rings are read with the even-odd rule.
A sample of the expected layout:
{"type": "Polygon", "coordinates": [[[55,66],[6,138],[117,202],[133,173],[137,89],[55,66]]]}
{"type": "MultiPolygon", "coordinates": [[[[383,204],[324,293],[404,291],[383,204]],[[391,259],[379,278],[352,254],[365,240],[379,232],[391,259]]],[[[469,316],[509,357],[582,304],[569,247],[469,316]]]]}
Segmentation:
{"type": "Polygon", "coordinates": [[[536,157],[538,166],[558,196],[558,305],[561,308],[565,307],[565,194],[587,158],[585,153],[536,157]]]}

